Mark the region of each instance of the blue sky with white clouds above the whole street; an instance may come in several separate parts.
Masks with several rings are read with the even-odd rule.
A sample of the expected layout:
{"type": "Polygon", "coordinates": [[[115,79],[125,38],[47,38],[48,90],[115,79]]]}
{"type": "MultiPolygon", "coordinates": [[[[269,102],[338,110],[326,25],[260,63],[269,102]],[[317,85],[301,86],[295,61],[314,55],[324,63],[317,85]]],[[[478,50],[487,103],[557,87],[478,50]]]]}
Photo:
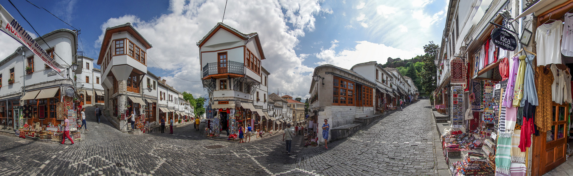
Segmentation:
{"type": "MultiPolygon", "coordinates": [[[[303,101],[319,65],[350,69],[424,54],[423,45],[441,41],[448,5],[447,0],[28,1],[12,0],[32,26],[9,1],[0,5],[36,36],[79,29],[79,49],[95,59],[105,28],[131,23],[153,46],[147,50],[148,70],[194,96],[207,94],[196,42],[221,21],[242,33],[257,32],[266,56],[262,66],[270,72],[269,94],[303,101]]],[[[5,58],[20,44],[0,34],[0,58],[5,58]]]]}

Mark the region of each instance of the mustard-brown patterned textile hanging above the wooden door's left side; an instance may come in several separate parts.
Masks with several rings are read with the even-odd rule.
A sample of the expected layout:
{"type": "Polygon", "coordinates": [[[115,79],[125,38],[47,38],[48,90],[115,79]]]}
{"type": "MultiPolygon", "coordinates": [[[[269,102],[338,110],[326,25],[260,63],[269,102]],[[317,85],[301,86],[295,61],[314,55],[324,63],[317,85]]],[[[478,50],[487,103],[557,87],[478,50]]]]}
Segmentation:
{"type": "Polygon", "coordinates": [[[541,65],[535,69],[535,76],[537,77],[535,85],[537,86],[537,97],[539,98],[539,106],[537,106],[535,111],[535,124],[537,125],[537,130],[547,132],[551,130],[551,117],[553,117],[551,91],[548,91],[553,83],[553,73],[551,69],[541,65]]]}

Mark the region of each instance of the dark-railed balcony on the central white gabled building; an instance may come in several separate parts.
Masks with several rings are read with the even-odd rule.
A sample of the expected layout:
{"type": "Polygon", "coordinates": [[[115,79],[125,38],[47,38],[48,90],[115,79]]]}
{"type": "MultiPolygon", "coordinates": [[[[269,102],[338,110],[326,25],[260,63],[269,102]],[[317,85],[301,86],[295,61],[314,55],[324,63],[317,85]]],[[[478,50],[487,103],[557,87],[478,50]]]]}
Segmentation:
{"type": "Polygon", "coordinates": [[[207,63],[203,67],[203,80],[225,77],[245,77],[245,64],[235,61],[207,63]]]}

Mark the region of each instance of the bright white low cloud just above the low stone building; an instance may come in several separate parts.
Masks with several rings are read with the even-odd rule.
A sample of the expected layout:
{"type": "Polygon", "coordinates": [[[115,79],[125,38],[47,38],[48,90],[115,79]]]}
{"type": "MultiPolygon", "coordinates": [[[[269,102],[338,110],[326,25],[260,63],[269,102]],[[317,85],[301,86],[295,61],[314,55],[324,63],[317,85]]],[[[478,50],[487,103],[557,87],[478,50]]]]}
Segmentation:
{"type": "Polygon", "coordinates": [[[337,67],[350,69],[352,65],[368,62],[378,61],[379,64],[386,63],[386,58],[402,58],[410,59],[420,54],[424,54],[422,48],[411,48],[409,50],[397,49],[384,44],[375,44],[368,41],[357,41],[354,49],[343,49],[336,52],[336,43],[328,49],[321,49],[320,53],[315,54],[320,59],[315,64],[332,64],[337,67]]]}

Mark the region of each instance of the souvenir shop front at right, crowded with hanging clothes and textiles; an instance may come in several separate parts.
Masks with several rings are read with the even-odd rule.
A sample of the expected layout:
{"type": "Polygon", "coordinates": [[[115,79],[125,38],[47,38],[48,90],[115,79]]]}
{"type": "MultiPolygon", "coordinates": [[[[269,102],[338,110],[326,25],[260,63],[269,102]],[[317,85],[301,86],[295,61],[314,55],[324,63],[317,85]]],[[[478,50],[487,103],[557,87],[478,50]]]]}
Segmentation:
{"type": "Polygon", "coordinates": [[[452,128],[441,138],[453,175],[543,175],[573,154],[568,11],[573,1],[537,14],[529,22],[535,42],[514,51],[497,46],[503,30],[490,25],[481,44],[450,62],[452,73],[462,71],[452,75],[452,128]]]}

